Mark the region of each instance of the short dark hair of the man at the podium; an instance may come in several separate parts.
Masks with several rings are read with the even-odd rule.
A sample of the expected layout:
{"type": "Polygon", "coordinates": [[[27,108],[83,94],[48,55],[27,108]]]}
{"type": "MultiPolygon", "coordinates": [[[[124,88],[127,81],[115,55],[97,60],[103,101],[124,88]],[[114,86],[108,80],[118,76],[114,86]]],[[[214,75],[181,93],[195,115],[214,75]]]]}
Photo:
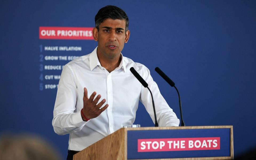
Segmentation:
{"type": "Polygon", "coordinates": [[[125,11],[123,11],[121,8],[118,8],[116,6],[105,6],[101,8],[98,11],[98,13],[95,15],[95,27],[97,28],[98,31],[99,31],[99,25],[108,18],[111,18],[114,20],[115,19],[125,20],[126,21],[125,32],[128,30],[129,19],[125,11]]]}

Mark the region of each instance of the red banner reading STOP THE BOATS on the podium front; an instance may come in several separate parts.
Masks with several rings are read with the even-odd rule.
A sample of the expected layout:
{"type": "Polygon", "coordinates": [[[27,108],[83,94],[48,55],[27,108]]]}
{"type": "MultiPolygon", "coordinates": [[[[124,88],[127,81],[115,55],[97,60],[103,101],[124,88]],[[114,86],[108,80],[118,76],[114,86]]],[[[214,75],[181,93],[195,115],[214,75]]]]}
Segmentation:
{"type": "Polygon", "coordinates": [[[138,139],[138,152],[219,149],[220,137],[138,139]]]}

